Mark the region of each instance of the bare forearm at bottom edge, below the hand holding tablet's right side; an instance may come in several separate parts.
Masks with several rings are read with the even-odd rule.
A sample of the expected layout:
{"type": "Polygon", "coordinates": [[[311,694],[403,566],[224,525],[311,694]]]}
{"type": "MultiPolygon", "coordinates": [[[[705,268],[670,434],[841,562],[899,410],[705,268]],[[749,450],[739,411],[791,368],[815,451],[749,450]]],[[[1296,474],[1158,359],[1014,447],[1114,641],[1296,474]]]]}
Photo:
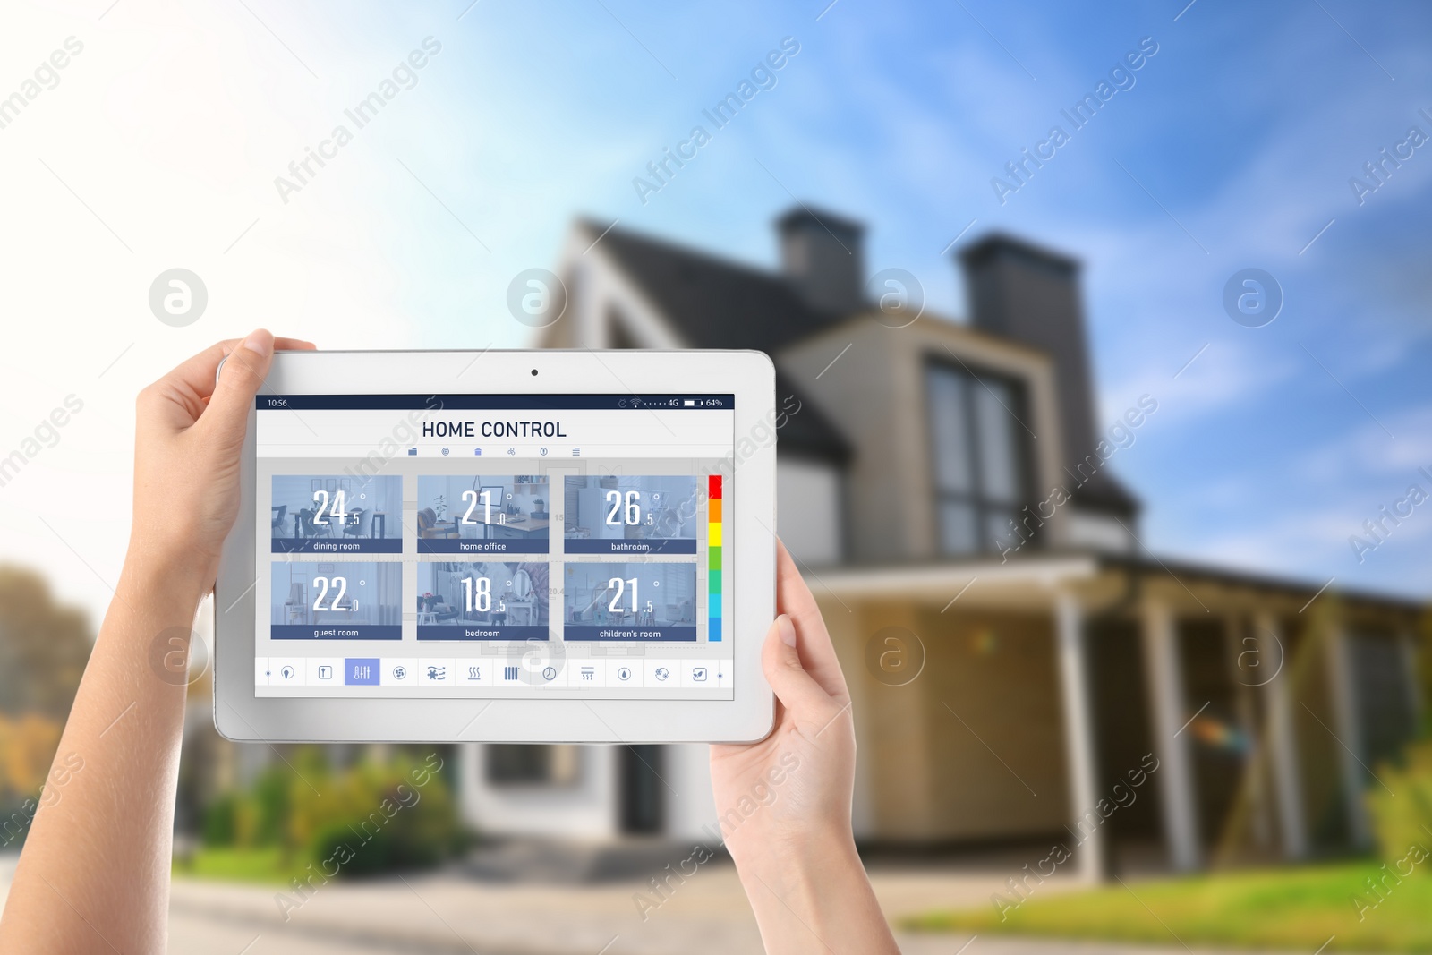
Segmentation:
{"type": "Polygon", "coordinates": [[[768,952],[899,954],[849,838],[770,846],[736,868],[768,952]]]}

